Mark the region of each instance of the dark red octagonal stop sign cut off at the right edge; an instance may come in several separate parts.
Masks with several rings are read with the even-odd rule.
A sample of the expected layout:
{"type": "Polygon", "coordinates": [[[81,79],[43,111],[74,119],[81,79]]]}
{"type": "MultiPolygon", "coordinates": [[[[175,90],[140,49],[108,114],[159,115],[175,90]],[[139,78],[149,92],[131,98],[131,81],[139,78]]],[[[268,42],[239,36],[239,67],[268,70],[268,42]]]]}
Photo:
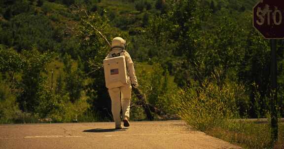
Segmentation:
{"type": "Polygon", "coordinates": [[[284,0],[261,0],[253,7],[253,26],[266,39],[284,38],[284,0]]]}

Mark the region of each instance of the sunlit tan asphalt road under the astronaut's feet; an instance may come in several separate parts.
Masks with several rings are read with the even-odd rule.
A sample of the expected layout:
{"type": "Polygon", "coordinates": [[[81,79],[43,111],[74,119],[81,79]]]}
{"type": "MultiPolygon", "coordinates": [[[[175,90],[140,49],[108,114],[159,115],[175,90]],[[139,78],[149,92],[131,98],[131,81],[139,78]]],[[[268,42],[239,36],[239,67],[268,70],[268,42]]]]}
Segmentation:
{"type": "Polygon", "coordinates": [[[0,125],[0,149],[241,149],[183,121],[0,125]]]}

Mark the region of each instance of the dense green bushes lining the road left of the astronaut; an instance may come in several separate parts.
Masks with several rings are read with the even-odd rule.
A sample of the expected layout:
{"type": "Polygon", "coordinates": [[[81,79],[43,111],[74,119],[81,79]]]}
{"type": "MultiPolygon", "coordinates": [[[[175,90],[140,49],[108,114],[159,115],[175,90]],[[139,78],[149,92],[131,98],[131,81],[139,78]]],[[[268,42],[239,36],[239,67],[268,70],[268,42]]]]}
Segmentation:
{"type": "Polygon", "coordinates": [[[1,46],[0,123],[99,121],[95,112],[88,112],[90,104],[80,88],[80,69],[71,69],[70,56],[61,78],[67,81],[57,81],[56,92],[47,86],[46,65],[51,56],[36,48],[18,53],[1,46]]]}

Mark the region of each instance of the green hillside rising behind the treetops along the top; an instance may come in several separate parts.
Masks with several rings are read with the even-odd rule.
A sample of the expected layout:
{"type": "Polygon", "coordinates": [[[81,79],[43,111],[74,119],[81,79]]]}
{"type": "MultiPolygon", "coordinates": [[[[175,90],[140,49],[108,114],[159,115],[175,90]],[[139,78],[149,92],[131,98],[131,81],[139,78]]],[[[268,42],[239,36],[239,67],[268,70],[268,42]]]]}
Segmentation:
{"type": "MultiPolygon", "coordinates": [[[[166,8],[165,10],[162,10],[163,8],[157,9],[157,1],[163,0],[85,0],[81,4],[85,5],[84,7],[88,12],[98,12],[100,15],[106,15],[112,27],[134,36],[143,31],[142,27],[147,25],[151,17],[159,16],[163,11],[167,11],[166,8]]],[[[202,3],[216,10],[222,8],[250,11],[256,1],[204,0],[202,3]]],[[[79,20],[78,16],[72,13],[74,10],[71,7],[71,4],[78,2],[76,0],[2,0],[0,8],[0,43],[15,47],[16,50],[28,49],[35,43],[40,50],[62,49],[61,46],[67,44],[65,39],[68,38],[62,31],[66,30],[66,27],[72,27],[79,20]],[[31,17],[30,14],[35,16],[31,17]],[[39,24],[32,20],[45,23],[39,24]],[[15,26],[17,22],[23,22],[23,24],[15,26]],[[32,30],[25,30],[25,26],[29,26],[32,30]],[[41,28],[44,28],[44,30],[41,30],[41,28]],[[31,37],[31,32],[33,32],[33,36],[35,36],[34,32],[36,32],[37,37],[31,37]],[[18,36],[21,36],[21,38],[18,36]]]]}

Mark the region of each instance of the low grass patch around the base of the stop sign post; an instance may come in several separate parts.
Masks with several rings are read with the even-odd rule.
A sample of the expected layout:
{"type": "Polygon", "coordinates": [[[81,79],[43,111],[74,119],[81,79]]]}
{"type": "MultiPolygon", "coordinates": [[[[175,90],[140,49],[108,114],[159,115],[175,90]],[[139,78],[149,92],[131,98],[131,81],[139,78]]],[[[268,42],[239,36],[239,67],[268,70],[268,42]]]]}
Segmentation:
{"type": "MultiPolygon", "coordinates": [[[[270,149],[271,126],[268,123],[256,122],[227,122],[222,126],[216,126],[206,132],[228,142],[234,142],[246,149],[270,149]]],[[[284,144],[284,124],[279,124],[279,142],[274,149],[282,149],[284,144]]]]}

